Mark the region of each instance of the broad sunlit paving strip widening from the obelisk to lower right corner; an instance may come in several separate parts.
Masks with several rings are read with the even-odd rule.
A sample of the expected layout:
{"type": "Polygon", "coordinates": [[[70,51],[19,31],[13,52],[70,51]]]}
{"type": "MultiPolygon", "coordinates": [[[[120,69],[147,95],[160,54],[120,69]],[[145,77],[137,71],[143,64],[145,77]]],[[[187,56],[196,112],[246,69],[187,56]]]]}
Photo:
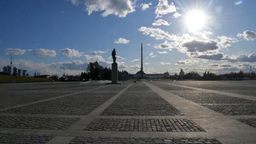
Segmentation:
{"type": "Polygon", "coordinates": [[[223,114],[186,100],[150,83],[143,83],[188,116],[188,118],[193,120],[198,126],[202,127],[210,137],[217,138],[222,144],[255,142],[255,135],[252,135],[252,133],[256,133],[254,127],[247,126],[229,116],[224,116],[223,114]]]}

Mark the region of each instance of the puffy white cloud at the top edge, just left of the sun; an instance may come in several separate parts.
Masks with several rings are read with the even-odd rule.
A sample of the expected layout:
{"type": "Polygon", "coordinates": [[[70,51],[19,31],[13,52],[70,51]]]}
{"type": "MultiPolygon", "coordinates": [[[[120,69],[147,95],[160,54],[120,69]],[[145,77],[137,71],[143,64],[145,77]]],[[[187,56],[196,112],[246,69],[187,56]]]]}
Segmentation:
{"type": "Polygon", "coordinates": [[[155,10],[156,18],[162,17],[161,15],[176,12],[176,9],[178,8],[174,6],[173,2],[169,5],[167,0],[159,0],[155,10]]]}

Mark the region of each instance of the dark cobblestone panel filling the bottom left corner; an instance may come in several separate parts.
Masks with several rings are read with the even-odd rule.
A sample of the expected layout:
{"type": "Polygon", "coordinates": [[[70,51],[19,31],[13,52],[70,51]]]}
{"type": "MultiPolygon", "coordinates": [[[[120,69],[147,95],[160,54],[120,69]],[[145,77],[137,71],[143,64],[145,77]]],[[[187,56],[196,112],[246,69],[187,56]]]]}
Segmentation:
{"type": "Polygon", "coordinates": [[[0,144],[45,144],[53,135],[24,135],[0,133],[0,144]]]}

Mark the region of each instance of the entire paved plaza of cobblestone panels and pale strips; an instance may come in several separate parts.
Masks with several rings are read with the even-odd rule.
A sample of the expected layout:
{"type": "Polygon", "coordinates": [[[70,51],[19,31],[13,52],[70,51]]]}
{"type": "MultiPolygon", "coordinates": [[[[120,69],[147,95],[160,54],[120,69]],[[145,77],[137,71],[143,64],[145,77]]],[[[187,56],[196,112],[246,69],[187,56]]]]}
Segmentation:
{"type": "Polygon", "coordinates": [[[0,84],[0,144],[256,144],[256,81],[0,84]]]}

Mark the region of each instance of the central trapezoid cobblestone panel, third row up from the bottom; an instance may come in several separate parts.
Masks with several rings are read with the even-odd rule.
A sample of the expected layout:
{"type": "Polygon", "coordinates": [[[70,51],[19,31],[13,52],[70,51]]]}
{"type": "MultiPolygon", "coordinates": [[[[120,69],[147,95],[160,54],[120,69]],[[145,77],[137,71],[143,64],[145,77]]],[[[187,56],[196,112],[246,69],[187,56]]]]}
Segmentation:
{"type": "Polygon", "coordinates": [[[156,93],[124,93],[100,115],[175,116],[183,114],[156,93]]]}

